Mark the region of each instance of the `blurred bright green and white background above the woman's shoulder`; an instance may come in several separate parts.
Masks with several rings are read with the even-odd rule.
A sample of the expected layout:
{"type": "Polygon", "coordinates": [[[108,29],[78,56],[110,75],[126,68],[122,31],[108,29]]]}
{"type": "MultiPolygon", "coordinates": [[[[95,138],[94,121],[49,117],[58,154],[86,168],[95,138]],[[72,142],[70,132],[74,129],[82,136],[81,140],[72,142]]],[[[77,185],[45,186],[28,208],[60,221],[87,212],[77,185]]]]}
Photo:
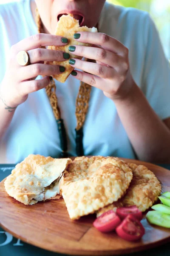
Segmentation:
{"type": "Polygon", "coordinates": [[[170,0],[107,0],[110,3],[141,9],[156,23],[165,55],[170,59],[170,0]]]}

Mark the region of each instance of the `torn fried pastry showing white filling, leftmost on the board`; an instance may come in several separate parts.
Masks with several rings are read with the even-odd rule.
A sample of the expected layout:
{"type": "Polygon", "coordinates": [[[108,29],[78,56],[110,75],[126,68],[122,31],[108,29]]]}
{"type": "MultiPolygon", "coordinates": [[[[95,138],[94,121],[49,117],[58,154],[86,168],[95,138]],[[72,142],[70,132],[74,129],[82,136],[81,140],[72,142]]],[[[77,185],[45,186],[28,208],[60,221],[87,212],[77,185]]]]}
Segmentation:
{"type": "Polygon", "coordinates": [[[29,155],[5,180],[8,195],[23,204],[36,204],[59,194],[62,173],[72,160],[29,155]]]}

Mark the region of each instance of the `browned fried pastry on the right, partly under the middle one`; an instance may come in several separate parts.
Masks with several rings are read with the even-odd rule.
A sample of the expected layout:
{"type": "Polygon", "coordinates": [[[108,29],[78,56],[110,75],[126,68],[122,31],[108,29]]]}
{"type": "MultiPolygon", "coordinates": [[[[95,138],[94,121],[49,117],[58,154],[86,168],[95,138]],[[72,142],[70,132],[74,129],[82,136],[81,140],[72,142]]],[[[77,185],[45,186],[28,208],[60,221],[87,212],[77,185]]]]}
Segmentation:
{"type": "Polygon", "coordinates": [[[156,176],[146,166],[127,163],[133,171],[133,179],[125,196],[97,212],[97,217],[108,210],[136,205],[142,212],[151,207],[161,193],[161,185],[156,176]]]}

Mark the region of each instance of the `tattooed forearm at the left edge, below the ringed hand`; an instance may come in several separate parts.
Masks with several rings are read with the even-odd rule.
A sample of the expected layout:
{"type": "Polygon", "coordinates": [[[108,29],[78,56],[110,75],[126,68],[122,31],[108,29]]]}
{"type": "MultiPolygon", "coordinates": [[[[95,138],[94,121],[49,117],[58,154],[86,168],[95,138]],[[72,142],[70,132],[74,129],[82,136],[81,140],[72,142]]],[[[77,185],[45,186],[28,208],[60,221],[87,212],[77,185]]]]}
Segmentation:
{"type": "Polygon", "coordinates": [[[14,111],[15,108],[10,108],[7,106],[0,96],[0,140],[11,123],[12,117],[14,116],[14,111]]]}

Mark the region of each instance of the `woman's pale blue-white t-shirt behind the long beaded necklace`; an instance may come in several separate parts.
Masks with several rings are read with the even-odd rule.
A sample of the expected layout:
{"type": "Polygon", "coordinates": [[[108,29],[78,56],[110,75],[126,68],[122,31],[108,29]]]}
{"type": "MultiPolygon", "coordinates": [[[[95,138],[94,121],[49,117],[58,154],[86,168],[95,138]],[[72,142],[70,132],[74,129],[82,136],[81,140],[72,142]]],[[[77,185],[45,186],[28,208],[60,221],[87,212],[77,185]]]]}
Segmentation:
{"type": "MultiPolygon", "coordinates": [[[[148,13],[105,3],[99,32],[111,35],[129,49],[130,69],[136,84],[158,116],[161,119],[169,117],[169,63],[148,13]]],[[[36,33],[30,0],[0,6],[0,81],[6,71],[10,47],[36,33]]],[[[69,76],[65,84],[56,81],[56,85],[59,108],[68,136],[68,152],[75,156],[75,102],[79,81],[69,76]]],[[[83,132],[85,155],[135,158],[113,101],[94,87],[83,132]]],[[[0,143],[0,163],[18,163],[28,154],[58,157],[60,152],[57,122],[45,89],[31,93],[26,102],[17,107],[0,143]]]]}

